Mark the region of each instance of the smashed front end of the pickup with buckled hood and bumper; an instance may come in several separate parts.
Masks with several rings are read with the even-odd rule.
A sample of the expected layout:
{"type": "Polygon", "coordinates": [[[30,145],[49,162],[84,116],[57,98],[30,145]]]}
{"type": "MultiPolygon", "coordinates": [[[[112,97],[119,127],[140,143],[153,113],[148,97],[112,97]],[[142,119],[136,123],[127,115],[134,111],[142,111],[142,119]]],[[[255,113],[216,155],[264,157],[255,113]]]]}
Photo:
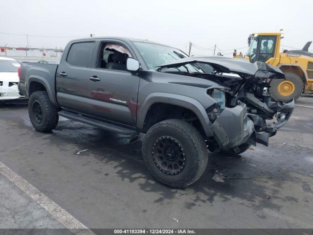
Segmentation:
{"type": "Polygon", "coordinates": [[[274,136],[291,117],[294,101],[273,101],[267,90],[271,79],[284,79],[285,75],[276,67],[263,62],[249,63],[221,57],[191,57],[161,69],[177,68],[185,64],[209,65],[213,72],[193,72],[188,76],[201,77],[218,83],[207,94],[216,103],[206,109],[213,136],[210,150],[235,149],[244,144],[261,143],[268,146],[274,136]]]}

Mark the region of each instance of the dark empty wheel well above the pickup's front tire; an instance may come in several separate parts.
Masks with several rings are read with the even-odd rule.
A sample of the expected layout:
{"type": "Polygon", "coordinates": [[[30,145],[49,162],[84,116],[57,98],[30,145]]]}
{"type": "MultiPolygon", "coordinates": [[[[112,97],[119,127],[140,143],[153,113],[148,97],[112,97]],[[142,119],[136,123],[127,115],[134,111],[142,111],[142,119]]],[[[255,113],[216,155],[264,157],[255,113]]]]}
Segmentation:
{"type": "Polygon", "coordinates": [[[199,118],[193,111],[165,103],[155,103],[151,105],[145,117],[143,132],[146,133],[149,128],[157,122],[172,118],[186,120],[194,125],[201,134],[204,134],[199,118]]]}

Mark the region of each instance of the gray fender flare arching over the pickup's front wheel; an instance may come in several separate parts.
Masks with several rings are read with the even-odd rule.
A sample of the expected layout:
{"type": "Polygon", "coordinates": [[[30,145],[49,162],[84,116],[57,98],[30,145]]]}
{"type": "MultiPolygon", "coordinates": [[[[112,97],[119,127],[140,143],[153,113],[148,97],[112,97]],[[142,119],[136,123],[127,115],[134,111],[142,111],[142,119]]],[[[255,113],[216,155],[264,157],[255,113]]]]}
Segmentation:
{"type": "Polygon", "coordinates": [[[143,101],[141,108],[137,113],[136,126],[139,130],[143,130],[144,121],[148,110],[155,103],[172,104],[191,110],[199,118],[205,135],[208,137],[213,136],[213,132],[209,128],[211,126],[211,122],[205,112],[204,107],[198,100],[180,94],[161,92],[151,93],[143,101]]]}

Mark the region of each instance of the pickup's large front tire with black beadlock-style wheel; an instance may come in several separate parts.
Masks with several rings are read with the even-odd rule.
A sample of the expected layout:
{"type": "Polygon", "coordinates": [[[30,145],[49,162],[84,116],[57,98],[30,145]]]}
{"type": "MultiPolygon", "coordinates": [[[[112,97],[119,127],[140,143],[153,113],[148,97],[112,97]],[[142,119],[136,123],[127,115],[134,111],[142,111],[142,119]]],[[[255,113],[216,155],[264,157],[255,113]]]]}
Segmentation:
{"type": "Polygon", "coordinates": [[[172,188],[197,181],[208,162],[208,150],[200,132],[179,119],[152,126],[142,142],[142,155],[154,177],[172,188]]]}

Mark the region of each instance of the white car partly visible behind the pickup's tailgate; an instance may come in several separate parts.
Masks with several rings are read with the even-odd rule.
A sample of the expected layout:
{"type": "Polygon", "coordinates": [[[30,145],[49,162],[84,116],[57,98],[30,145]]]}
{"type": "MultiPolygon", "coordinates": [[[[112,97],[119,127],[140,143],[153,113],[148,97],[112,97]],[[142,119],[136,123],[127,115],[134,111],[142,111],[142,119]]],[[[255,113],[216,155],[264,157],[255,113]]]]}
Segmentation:
{"type": "Polygon", "coordinates": [[[19,93],[18,70],[21,64],[12,58],[0,57],[0,101],[24,98],[19,93]]]}

